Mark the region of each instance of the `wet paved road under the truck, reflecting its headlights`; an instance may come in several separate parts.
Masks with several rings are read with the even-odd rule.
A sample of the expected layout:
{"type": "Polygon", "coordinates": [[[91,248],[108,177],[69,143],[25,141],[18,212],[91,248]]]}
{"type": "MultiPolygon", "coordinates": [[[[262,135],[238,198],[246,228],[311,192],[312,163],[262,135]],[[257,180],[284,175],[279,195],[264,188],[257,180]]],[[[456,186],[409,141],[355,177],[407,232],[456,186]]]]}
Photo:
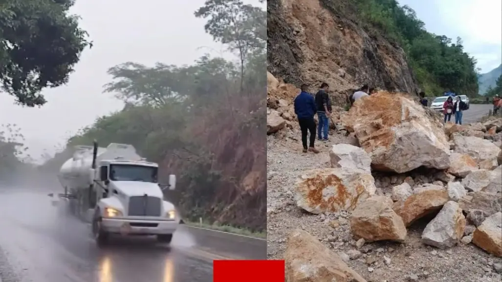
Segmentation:
{"type": "Polygon", "coordinates": [[[98,249],[90,226],[45,193],[0,191],[0,281],[207,282],[213,259],[266,259],[265,240],[183,226],[171,245],[112,237],[98,249]]]}

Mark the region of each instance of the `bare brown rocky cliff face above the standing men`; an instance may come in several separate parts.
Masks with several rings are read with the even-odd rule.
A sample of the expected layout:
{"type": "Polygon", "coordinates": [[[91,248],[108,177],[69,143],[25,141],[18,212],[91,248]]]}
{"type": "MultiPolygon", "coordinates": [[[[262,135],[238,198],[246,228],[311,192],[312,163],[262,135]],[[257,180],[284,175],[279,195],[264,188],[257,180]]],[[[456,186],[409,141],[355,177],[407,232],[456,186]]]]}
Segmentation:
{"type": "Polygon", "coordinates": [[[335,104],[367,83],[388,91],[416,93],[404,51],[357,24],[349,1],[269,0],[268,71],[286,83],[325,81],[335,104]]]}

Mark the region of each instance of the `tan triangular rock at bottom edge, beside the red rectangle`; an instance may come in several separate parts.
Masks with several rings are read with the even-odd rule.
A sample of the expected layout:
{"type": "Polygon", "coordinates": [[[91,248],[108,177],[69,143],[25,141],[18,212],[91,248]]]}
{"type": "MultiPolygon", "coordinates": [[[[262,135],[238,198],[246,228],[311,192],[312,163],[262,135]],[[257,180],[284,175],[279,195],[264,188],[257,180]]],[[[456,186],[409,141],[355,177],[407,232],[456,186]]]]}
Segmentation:
{"type": "Polygon", "coordinates": [[[289,235],[284,260],[287,282],[367,282],[337,254],[300,229],[289,235]]]}

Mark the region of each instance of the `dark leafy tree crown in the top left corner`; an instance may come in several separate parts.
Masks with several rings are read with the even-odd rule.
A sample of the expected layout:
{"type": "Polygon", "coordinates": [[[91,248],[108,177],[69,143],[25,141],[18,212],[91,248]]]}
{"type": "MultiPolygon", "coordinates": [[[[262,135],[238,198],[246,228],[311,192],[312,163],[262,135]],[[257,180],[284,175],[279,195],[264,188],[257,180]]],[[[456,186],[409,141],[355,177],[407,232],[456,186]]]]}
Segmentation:
{"type": "Polygon", "coordinates": [[[0,81],[19,104],[41,106],[40,91],[68,82],[91,43],[69,15],[74,0],[5,0],[0,7],[0,81]]]}

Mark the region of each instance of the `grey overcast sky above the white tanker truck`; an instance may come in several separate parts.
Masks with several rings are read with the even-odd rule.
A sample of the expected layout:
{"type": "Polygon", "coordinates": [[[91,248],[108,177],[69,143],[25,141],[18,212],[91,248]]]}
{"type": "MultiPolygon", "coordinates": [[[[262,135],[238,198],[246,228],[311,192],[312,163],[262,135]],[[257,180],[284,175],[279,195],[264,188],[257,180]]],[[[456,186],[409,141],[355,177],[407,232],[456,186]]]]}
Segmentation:
{"type": "MultiPolygon", "coordinates": [[[[258,0],[246,3],[260,5],[258,0]]],[[[77,0],[71,9],[82,17],[81,27],[94,41],[85,50],[68,85],[47,89],[41,108],[14,105],[0,94],[0,124],[16,123],[26,137],[33,158],[54,146],[98,116],[122,108],[112,94],[102,93],[110,82],[108,68],[127,61],[153,65],[191,64],[204,53],[219,56],[224,48],[204,32],[204,19],[194,12],[204,0],[77,0]],[[199,47],[208,48],[199,48],[199,47]]],[[[225,57],[229,55],[226,54],[225,57]]],[[[231,58],[231,57],[230,57],[231,58]]]]}

